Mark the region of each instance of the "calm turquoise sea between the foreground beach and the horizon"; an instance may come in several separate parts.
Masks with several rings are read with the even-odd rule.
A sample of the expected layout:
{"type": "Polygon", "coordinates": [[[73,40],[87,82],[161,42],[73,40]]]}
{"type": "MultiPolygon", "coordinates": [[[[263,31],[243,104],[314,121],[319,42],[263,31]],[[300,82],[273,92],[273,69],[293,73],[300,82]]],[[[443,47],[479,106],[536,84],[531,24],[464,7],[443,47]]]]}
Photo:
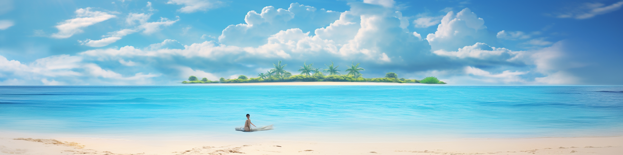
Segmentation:
{"type": "Polygon", "coordinates": [[[337,142],[623,136],[623,86],[0,86],[0,131],[337,142]],[[245,114],[275,130],[243,133],[245,114]]]}

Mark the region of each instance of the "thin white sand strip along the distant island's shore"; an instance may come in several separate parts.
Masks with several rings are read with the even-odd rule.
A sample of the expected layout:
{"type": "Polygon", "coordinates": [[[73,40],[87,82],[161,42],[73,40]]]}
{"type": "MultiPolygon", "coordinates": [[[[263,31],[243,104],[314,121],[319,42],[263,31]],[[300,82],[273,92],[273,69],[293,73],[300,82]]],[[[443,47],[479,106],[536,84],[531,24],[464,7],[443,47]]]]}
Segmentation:
{"type": "Polygon", "coordinates": [[[394,82],[257,82],[257,83],[214,83],[184,84],[196,86],[443,86],[443,84],[394,83],[394,82]]]}

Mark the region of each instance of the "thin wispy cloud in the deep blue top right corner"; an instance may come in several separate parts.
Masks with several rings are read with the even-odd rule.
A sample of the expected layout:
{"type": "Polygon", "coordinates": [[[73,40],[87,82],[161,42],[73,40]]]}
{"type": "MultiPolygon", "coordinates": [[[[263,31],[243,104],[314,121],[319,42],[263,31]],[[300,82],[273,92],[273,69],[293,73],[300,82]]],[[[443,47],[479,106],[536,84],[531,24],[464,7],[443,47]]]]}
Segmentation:
{"type": "Polygon", "coordinates": [[[583,6],[579,6],[575,9],[571,9],[568,12],[558,13],[556,17],[559,18],[574,18],[574,19],[589,19],[595,17],[595,15],[607,14],[612,11],[621,9],[623,1],[615,2],[609,6],[605,6],[600,2],[590,3],[586,2],[583,6]]]}

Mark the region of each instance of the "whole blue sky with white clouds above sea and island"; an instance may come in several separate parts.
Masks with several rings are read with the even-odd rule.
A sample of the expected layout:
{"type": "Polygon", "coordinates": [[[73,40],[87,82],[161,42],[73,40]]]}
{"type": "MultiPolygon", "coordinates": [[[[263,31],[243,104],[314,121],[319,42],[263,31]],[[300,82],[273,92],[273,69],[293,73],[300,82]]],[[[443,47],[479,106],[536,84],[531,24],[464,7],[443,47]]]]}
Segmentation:
{"type": "Polygon", "coordinates": [[[174,85],[303,63],[623,85],[623,1],[0,0],[0,85],[174,85]]]}

